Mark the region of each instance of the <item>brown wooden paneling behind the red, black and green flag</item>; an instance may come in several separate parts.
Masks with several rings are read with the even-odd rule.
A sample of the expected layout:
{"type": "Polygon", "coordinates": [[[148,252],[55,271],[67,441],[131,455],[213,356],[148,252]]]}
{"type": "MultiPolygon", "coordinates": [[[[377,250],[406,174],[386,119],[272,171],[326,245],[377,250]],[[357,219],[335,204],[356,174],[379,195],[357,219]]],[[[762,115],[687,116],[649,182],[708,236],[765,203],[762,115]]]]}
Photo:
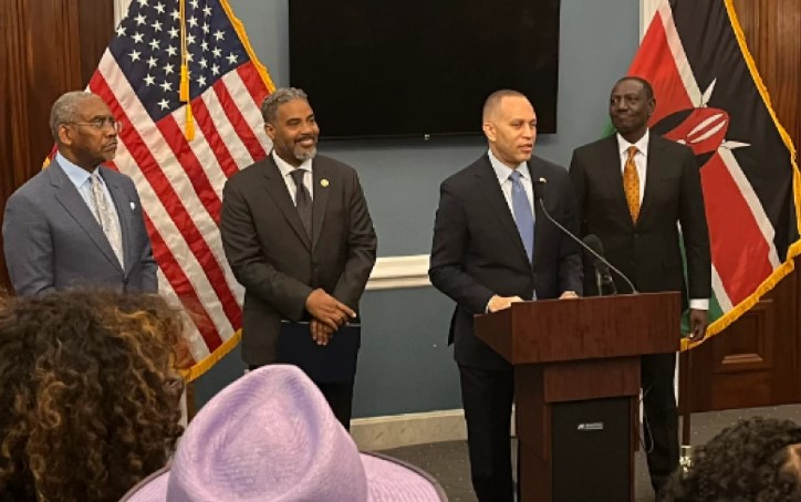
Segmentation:
{"type": "MultiPolygon", "coordinates": [[[[801,1],[735,0],[751,55],[773,109],[801,145],[801,1]]],[[[797,271],[750,312],[693,351],[690,408],[801,402],[801,326],[797,271]]]]}

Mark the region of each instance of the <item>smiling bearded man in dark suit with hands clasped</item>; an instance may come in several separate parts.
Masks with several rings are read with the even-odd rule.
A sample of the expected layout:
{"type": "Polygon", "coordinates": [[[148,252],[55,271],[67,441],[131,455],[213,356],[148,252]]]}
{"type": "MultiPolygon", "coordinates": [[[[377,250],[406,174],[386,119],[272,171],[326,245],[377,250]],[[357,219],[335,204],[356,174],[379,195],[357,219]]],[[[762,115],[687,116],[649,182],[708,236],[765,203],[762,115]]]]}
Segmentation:
{"type": "MultiPolygon", "coordinates": [[[[228,180],[220,218],[245,286],[242,358],[251,369],[278,360],[281,321],[309,321],[319,345],[337,336],[356,316],[376,255],[356,171],[316,155],[320,128],[305,93],[279,88],[261,113],[273,149],[228,180]]],[[[347,428],[353,380],[315,384],[347,428]]]]}

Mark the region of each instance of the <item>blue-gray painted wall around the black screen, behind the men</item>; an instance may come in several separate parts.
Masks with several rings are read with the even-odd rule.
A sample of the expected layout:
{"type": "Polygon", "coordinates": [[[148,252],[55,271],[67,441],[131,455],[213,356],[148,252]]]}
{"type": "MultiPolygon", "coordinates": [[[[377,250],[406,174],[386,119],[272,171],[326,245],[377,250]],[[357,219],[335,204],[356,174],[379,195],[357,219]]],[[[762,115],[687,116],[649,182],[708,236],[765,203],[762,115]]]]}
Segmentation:
{"type": "MultiPolygon", "coordinates": [[[[288,1],[229,0],[279,86],[289,84],[288,1]]],[[[606,124],[608,92],[636,51],[638,20],[637,0],[562,0],[559,133],[540,136],[537,155],[568,165],[573,148],[597,138],[606,124]]],[[[335,85],[337,80],[331,81],[335,85]]],[[[318,119],[325,135],[325,117],[318,119]]],[[[378,255],[396,257],[430,251],[439,182],[486,148],[477,136],[334,142],[320,150],[356,167],[378,233],[378,255]]],[[[451,310],[451,302],[431,287],[365,293],[354,416],[460,407],[458,375],[446,345],[451,310]]],[[[207,401],[241,370],[237,349],[197,381],[198,401],[207,401]]]]}

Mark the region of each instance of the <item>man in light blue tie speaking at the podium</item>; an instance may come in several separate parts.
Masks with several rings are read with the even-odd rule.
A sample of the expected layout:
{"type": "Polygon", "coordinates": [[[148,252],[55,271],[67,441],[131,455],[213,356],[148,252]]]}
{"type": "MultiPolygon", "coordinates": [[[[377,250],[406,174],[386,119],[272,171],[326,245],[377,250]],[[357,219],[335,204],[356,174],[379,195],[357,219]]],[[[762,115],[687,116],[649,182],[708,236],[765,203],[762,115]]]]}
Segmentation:
{"type": "Polygon", "coordinates": [[[480,501],[513,500],[510,430],[512,366],[472,331],[476,314],[513,302],[575,297],[582,291],[574,242],[534,211],[533,184],[545,179],[548,211],[579,230],[568,172],[531,153],[537,115],[516,91],[498,91],[483,107],[489,151],[440,187],[431,283],[456,302],[448,343],[459,366],[472,485],[480,501]]]}

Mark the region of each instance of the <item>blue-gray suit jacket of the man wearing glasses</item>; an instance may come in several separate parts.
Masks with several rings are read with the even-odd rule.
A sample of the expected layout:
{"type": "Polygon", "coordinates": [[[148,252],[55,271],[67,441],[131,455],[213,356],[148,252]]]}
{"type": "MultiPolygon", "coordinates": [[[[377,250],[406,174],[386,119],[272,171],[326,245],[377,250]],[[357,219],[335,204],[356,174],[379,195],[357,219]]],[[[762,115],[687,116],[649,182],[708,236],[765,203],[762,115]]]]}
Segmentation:
{"type": "Polygon", "coordinates": [[[158,290],[157,265],[134,182],[103,166],[100,175],[119,217],[125,264],[119,264],[92,210],[54,160],[6,205],[3,247],[17,294],[76,286],[158,290]]]}

